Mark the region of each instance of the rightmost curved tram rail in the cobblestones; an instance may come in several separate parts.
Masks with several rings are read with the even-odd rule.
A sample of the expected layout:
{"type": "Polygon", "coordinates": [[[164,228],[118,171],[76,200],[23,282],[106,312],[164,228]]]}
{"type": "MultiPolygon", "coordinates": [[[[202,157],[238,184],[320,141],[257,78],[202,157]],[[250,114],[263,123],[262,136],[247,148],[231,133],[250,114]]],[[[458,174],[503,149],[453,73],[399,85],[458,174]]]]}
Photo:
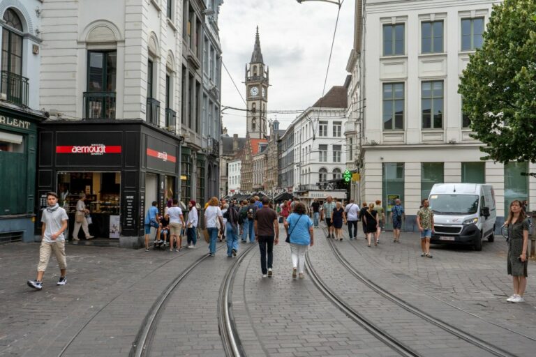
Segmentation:
{"type": "MultiPolygon", "coordinates": [[[[468,333],[466,331],[461,330],[460,328],[457,328],[456,326],[453,326],[452,324],[449,324],[445,321],[442,321],[441,319],[438,319],[436,317],[433,317],[431,314],[424,312],[423,310],[419,309],[418,307],[415,307],[408,303],[407,301],[404,301],[403,299],[399,298],[398,296],[395,296],[394,294],[391,294],[386,289],[380,287],[380,285],[376,284],[375,282],[372,282],[368,278],[366,278],[365,275],[357,271],[352,264],[348,262],[348,260],[341,255],[341,252],[336,247],[334,241],[327,238],[329,247],[331,248],[332,252],[334,252],[334,256],[338,260],[338,262],[346,269],[350,274],[352,274],[357,280],[362,282],[366,285],[369,289],[372,289],[375,291],[376,294],[379,294],[383,298],[386,298],[388,301],[391,301],[392,303],[398,305],[399,307],[402,307],[403,310],[406,310],[410,312],[411,314],[414,314],[417,317],[420,317],[421,319],[424,319],[425,321],[428,321],[429,323],[438,326],[443,331],[446,331],[447,333],[454,335],[456,337],[459,337],[461,340],[464,340],[470,344],[472,344],[475,347],[478,347],[479,349],[482,349],[484,351],[489,352],[490,354],[493,354],[493,356],[500,356],[500,357],[514,357],[514,354],[509,353],[508,351],[505,351],[504,349],[501,349],[500,347],[497,347],[494,344],[491,344],[489,342],[486,342],[479,337],[472,335],[471,333],[468,333]]],[[[355,248],[355,247],[354,247],[355,248]]],[[[307,260],[308,266],[310,265],[307,260]]]]}

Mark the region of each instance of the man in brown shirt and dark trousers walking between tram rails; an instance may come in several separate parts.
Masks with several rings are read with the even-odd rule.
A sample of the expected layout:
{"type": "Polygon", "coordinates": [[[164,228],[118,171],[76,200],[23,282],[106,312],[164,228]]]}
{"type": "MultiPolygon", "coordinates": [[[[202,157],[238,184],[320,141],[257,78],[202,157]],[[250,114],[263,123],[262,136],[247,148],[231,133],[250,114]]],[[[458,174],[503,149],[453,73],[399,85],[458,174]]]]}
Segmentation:
{"type": "Polygon", "coordinates": [[[262,278],[273,275],[271,264],[274,261],[274,243],[279,243],[277,213],[269,208],[269,202],[268,197],[262,197],[262,208],[255,212],[255,239],[259,242],[262,278]]]}

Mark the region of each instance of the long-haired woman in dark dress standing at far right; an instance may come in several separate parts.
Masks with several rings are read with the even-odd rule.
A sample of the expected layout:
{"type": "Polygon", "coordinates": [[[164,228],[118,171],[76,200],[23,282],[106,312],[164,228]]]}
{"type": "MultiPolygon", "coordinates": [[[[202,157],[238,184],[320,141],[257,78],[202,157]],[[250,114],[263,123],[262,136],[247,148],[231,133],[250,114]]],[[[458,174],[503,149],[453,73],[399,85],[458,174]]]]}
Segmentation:
{"type": "Polygon", "coordinates": [[[507,298],[510,303],[523,303],[527,287],[528,267],[528,221],[523,206],[518,200],[510,203],[508,219],[505,222],[508,229],[507,271],[512,275],[514,294],[507,298]]]}

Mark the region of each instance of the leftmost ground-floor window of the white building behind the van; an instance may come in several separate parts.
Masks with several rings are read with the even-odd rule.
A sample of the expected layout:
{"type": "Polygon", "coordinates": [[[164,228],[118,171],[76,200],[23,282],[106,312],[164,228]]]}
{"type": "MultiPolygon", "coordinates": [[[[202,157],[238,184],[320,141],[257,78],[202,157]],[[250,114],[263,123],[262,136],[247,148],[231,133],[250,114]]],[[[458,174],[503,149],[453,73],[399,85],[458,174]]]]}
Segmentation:
{"type": "MultiPolygon", "coordinates": [[[[385,163],[382,166],[382,204],[387,217],[391,214],[395,200],[400,199],[404,205],[404,164],[385,163]]],[[[385,226],[392,229],[392,221],[386,220],[385,226]]]]}

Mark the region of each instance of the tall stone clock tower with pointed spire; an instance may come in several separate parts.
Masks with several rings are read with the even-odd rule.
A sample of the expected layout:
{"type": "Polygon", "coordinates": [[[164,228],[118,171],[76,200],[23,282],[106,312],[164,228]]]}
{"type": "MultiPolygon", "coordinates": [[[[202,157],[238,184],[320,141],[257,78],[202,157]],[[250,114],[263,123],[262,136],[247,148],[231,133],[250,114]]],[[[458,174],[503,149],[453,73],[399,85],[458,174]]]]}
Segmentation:
{"type": "Polygon", "coordinates": [[[268,102],[268,67],[262,60],[260,51],[259,26],[255,35],[255,47],[249,66],[246,64],[246,133],[252,139],[265,139],[267,135],[266,110],[268,102]]]}

